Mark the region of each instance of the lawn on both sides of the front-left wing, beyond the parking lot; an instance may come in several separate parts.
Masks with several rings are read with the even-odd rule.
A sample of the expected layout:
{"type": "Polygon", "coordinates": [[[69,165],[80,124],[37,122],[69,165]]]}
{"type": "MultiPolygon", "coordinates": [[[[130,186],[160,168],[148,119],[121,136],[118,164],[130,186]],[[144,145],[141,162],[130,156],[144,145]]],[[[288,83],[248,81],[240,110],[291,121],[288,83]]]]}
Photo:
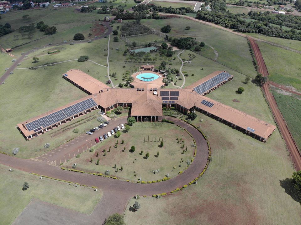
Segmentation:
{"type": "MultiPolygon", "coordinates": [[[[16,125],[26,119],[87,96],[82,90],[64,80],[61,74],[74,68],[81,69],[99,80],[107,79],[104,77],[106,68],[94,65],[91,62],[72,61],[48,66],[45,70],[43,68],[37,70],[15,69],[14,74],[6,79],[5,85],[0,87],[0,105],[6,109],[0,113],[0,118],[2,118],[0,121],[0,151],[11,154],[14,147],[19,147],[18,157],[34,158],[49,151],[49,149],[43,148],[45,143],[50,143],[50,148],[55,148],[57,145],[77,137],[78,134],[73,133],[71,129],[63,135],[51,138],[52,133],[71,124],[67,123],[38,138],[26,141],[18,132],[16,125]]],[[[97,116],[97,112],[93,113],[97,116]]],[[[90,115],[92,114],[89,113],[82,118],[90,115]]],[[[77,120],[74,121],[74,123],[76,122],[77,120]]],[[[89,127],[95,126],[93,125],[95,123],[98,123],[96,119],[84,123],[78,128],[80,132],[85,132],[89,127]]]]}

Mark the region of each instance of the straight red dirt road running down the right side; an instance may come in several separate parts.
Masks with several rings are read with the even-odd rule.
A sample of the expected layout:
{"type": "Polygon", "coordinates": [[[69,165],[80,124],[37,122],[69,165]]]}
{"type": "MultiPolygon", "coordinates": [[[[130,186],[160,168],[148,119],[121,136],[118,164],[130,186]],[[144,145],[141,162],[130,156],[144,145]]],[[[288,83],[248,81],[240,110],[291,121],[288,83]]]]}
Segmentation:
{"type": "MultiPolygon", "coordinates": [[[[254,51],[257,63],[258,63],[258,68],[259,68],[259,73],[261,73],[263,76],[267,77],[268,76],[268,72],[267,72],[267,67],[264,63],[264,60],[262,58],[260,49],[258,47],[258,45],[256,44],[256,42],[249,37],[249,40],[251,42],[251,46],[252,49],[254,51]]],[[[270,88],[269,88],[269,84],[265,83],[263,85],[263,90],[265,93],[265,96],[267,98],[267,101],[270,105],[270,108],[272,110],[272,113],[274,115],[274,119],[278,125],[278,128],[280,130],[280,133],[284,139],[284,141],[287,144],[287,147],[291,153],[291,158],[293,159],[294,165],[295,165],[295,169],[296,170],[301,170],[301,156],[300,153],[297,149],[297,146],[293,140],[293,137],[291,136],[288,127],[286,126],[285,120],[282,117],[282,114],[280,113],[278,107],[277,107],[277,103],[274,99],[274,97],[272,96],[272,93],[270,92],[270,88]]]]}

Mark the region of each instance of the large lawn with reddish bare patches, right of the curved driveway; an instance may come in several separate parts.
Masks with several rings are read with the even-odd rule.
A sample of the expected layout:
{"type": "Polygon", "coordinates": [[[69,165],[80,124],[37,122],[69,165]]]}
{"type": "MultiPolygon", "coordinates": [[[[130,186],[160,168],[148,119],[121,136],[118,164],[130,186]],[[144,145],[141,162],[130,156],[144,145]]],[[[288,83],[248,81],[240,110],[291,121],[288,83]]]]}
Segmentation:
{"type": "MultiPolygon", "coordinates": [[[[268,122],[272,122],[267,104],[258,104],[258,107],[258,111],[267,112],[271,118],[268,122]]],[[[250,108],[245,111],[249,112],[250,108]]],[[[125,221],[132,224],[135,220],[139,225],[145,220],[166,225],[230,225],[250,221],[299,224],[300,203],[285,189],[288,188],[286,178],[292,176],[294,169],[277,130],[267,143],[262,143],[204,114],[197,114],[193,123],[209,135],[212,149],[213,160],[206,173],[196,185],[173,196],[160,199],[140,196],[137,201],[141,208],[135,213],[129,211],[135,202],[131,199],[125,210],[125,221]]]]}

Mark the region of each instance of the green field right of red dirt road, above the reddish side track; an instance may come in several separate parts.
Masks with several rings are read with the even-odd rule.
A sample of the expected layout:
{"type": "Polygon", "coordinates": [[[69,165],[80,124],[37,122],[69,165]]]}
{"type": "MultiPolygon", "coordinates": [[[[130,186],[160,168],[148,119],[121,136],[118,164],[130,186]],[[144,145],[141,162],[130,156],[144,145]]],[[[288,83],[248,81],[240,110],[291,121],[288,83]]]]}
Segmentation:
{"type": "Polygon", "coordinates": [[[301,55],[292,51],[275,47],[267,43],[257,42],[273,82],[293,86],[301,90],[301,55]]]}

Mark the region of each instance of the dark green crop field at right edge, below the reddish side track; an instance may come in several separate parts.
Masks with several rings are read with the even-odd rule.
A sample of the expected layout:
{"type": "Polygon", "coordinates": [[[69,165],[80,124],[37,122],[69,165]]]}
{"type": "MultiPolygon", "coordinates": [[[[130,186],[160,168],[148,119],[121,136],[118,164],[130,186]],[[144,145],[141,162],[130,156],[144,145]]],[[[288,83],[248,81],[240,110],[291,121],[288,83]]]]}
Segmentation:
{"type": "Polygon", "coordinates": [[[289,95],[273,91],[277,106],[282,113],[289,131],[292,133],[298,147],[301,147],[301,100],[289,95]]]}

